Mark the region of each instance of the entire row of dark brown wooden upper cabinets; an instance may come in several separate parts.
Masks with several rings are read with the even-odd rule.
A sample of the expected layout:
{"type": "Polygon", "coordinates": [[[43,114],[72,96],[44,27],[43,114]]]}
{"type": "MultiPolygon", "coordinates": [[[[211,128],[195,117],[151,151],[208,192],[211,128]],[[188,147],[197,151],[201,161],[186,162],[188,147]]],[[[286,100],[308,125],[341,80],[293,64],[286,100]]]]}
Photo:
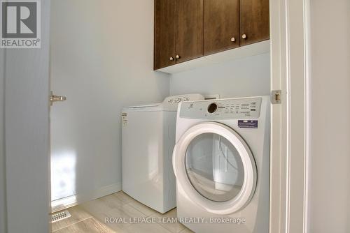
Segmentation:
{"type": "Polygon", "coordinates": [[[268,39],[269,0],[155,0],[155,70],[268,39]]]}

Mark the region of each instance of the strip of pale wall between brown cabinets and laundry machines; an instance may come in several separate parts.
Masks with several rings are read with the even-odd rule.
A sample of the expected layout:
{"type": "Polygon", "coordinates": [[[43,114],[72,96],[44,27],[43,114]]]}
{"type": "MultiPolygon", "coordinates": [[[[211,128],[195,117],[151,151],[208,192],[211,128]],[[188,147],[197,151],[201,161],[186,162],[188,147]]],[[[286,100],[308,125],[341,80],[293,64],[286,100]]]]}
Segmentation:
{"type": "Polygon", "coordinates": [[[170,93],[220,94],[221,98],[269,95],[269,54],[172,75],[170,93]]]}

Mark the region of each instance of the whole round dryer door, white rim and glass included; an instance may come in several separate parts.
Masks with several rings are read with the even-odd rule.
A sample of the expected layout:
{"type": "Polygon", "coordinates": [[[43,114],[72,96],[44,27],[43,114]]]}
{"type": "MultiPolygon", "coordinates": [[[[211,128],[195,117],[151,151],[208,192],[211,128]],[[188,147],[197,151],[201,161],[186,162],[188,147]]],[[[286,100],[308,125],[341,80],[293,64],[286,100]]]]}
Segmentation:
{"type": "Polygon", "coordinates": [[[244,208],[257,172],[251,150],[235,130],[216,122],[193,126],[176,144],[176,179],[190,200],[216,214],[244,208]]]}

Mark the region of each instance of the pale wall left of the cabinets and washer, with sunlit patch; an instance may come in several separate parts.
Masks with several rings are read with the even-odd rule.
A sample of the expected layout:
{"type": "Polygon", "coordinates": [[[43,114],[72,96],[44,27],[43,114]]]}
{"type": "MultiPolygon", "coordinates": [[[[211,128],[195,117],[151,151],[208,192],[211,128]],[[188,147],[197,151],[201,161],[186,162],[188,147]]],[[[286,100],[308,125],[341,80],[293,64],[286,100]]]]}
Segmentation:
{"type": "Polygon", "coordinates": [[[51,109],[52,184],[70,189],[52,197],[120,190],[122,108],[169,95],[153,72],[153,0],[53,0],[51,39],[52,91],[67,97],[51,109]]]}

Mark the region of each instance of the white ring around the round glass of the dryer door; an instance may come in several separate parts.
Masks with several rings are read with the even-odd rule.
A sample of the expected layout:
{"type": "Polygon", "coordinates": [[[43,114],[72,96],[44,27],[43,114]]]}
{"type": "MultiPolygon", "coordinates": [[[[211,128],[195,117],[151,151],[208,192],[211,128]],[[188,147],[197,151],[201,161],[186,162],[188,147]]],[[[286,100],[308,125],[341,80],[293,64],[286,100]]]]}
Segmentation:
{"type": "Polygon", "coordinates": [[[216,213],[220,215],[235,213],[236,211],[244,208],[244,206],[250,202],[251,197],[253,197],[255,192],[257,171],[253,154],[251,153],[251,150],[246,142],[244,142],[244,140],[238,133],[235,132],[235,130],[232,130],[232,128],[229,128],[221,123],[204,122],[189,128],[175,145],[173,167],[176,179],[182,184],[185,193],[191,200],[193,200],[193,202],[196,202],[198,205],[202,206],[209,213],[216,213]],[[241,156],[241,161],[244,167],[243,186],[241,187],[238,195],[234,199],[227,202],[213,202],[208,200],[200,195],[195,188],[193,188],[190,179],[188,179],[185,167],[185,157],[188,145],[195,137],[204,133],[214,133],[225,137],[226,140],[235,146],[239,156],[241,156]]]}

